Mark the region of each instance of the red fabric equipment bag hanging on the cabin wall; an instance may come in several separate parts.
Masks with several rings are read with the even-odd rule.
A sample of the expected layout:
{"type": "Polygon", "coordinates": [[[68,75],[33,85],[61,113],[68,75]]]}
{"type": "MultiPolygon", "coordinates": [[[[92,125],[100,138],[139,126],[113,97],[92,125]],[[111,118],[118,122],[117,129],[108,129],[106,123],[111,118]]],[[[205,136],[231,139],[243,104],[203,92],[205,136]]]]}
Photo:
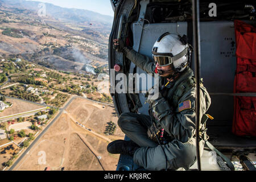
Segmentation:
{"type": "MultiPolygon", "coordinates": [[[[256,93],[256,28],[240,20],[235,20],[234,26],[237,45],[234,93],[256,93]]],[[[232,132],[256,137],[256,97],[234,96],[232,132]]]]}

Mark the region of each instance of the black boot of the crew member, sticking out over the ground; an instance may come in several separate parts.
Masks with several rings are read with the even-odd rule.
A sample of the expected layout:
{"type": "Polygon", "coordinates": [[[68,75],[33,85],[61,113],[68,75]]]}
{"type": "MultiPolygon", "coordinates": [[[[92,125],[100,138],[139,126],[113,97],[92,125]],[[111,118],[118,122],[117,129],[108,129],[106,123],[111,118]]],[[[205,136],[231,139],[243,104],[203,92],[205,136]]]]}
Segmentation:
{"type": "Polygon", "coordinates": [[[114,140],[108,144],[107,150],[111,154],[125,154],[133,156],[134,152],[138,148],[139,146],[131,140],[114,140]]]}

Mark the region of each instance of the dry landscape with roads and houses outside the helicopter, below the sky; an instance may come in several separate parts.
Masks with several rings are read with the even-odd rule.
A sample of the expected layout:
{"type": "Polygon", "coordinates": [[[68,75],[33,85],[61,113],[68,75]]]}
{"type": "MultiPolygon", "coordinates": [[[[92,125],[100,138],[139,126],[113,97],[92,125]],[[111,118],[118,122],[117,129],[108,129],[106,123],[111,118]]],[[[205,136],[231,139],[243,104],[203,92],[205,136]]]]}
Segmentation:
{"type": "Polygon", "coordinates": [[[112,16],[0,2],[0,170],[115,170],[112,16]]]}

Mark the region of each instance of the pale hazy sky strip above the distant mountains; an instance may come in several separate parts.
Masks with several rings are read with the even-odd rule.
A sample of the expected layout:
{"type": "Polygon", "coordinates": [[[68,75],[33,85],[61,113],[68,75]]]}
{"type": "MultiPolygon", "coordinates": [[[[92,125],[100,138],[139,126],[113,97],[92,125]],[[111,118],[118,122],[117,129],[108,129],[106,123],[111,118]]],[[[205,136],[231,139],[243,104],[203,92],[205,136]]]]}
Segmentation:
{"type": "Polygon", "coordinates": [[[60,7],[95,11],[100,14],[114,16],[110,0],[31,0],[47,2],[60,7]]]}

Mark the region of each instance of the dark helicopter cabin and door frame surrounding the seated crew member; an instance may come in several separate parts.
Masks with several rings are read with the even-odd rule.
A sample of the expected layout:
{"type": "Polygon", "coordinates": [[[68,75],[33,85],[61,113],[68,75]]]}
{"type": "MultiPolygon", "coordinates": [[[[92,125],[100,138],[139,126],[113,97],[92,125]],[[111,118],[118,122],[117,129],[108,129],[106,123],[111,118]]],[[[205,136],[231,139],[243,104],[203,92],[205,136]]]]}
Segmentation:
{"type": "MultiPolygon", "coordinates": [[[[189,44],[195,49],[191,67],[197,79],[203,77],[212,104],[208,113],[213,116],[207,122],[209,145],[204,151],[197,151],[197,162],[189,170],[255,170],[256,127],[250,126],[251,133],[238,134],[236,125],[241,97],[249,97],[252,103],[249,113],[255,115],[256,90],[237,88],[238,40],[236,22],[255,27],[255,2],[253,1],[186,1],[186,0],[110,0],[114,10],[112,31],[109,36],[109,71],[114,77],[122,73],[144,73],[131,63],[122,52],[113,48],[114,39],[122,39],[135,51],[152,58],[152,46],[164,32],[187,35],[189,44]],[[240,23],[241,23],[240,22],[240,23]]],[[[251,33],[253,34],[253,33],[251,33]]],[[[255,32],[254,32],[255,34],[255,32]]],[[[251,44],[255,52],[255,43],[251,44]]],[[[249,48],[249,49],[250,49],[249,48]]],[[[256,56],[253,55],[256,65],[256,56]]],[[[251,71],[253,77],[255,72],[251,71]]],[[[246,77],[246,76],[245,76],[246,77]]],[[[135,78],[136,79],[136,78],[135,78]]],[[[138,78],[139,79],[139,78],[138,78]]],[[[154,78],[147,77],[148,82],[154,78]],[[149,81],[148,81],[149,80],[149,81]]],[[[256,81],[256,80],[255,80],[256,81]]],[[[199,82],[199,81],[198,81],[199,82]]],[[[110,80],[110,91],[117,115],[124,112],[148,114],[145,92],[151,84],[132,82],[139,92],[118,93],[118,80],[110,80]]],[[[255,84],[255,82],[254,82],[255,84]]],[[[198,98],[197,98],[198,99],[198,98]]],[[[255,123],[255,117],[251,118],[255,123]]],[[[198,130],[198,127],[197,127],[198,130]]],[[[198,131],[197,131],[198,132],[198,131]]],[[[129,140],[126,136],[125,140],[129,140]]],[[[139,171],[143,168],[133,158],[120,155],[118,171],[139,171]]]]}

